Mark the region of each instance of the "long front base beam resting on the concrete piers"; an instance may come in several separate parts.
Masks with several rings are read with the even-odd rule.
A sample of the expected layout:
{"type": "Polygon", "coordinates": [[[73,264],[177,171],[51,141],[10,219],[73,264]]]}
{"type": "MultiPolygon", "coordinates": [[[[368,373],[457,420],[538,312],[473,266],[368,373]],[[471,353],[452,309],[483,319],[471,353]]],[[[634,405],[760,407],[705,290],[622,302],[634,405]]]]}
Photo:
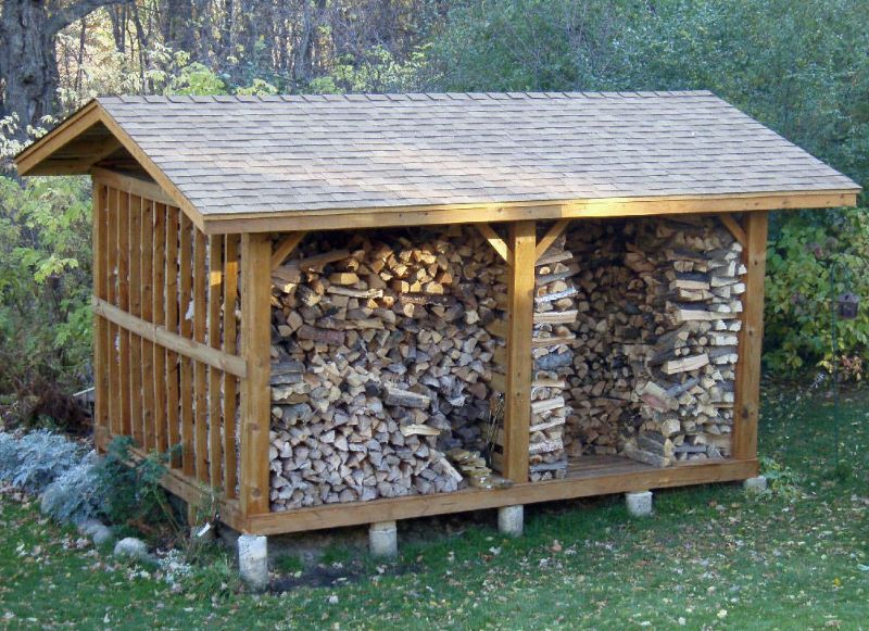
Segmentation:
{"type": "Polygon", "coordinates": [[[329,504],[297,508],[285,513],[255,515],[247,518],[244,530],[254,534],[304,532],[517,504],[575,500],[689,484],[729,482],[756,476],[757,469],[757,460],[701,460],[698,464],[690,463],[663,469],[648,467],[642,471],[605,474],[584,479],[571,479],[568,474],[568,478],[563,480],[525,482],[507,489],[466,489],[455,493],[406,495],[373,502],[329,504]]]}

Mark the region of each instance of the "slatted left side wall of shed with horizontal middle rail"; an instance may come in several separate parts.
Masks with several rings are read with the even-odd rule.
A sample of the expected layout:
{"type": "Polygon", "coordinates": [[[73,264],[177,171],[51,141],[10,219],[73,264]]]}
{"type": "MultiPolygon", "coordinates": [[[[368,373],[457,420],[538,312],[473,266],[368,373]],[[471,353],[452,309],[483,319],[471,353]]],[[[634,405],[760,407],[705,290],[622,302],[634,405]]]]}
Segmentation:
{"type": "Polygon", "coordinates": [[[95,388],[100,449],[131,437],[237,496],[239,237],[95,180],[95,388]]]}

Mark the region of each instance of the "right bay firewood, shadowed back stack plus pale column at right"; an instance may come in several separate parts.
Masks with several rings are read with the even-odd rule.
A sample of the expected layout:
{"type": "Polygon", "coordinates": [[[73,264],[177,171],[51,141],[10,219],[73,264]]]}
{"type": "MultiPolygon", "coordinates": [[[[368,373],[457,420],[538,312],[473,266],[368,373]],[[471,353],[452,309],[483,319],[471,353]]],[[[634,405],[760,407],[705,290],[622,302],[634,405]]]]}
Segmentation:
{"type": "Polygon", "coordinates": [[[590,224],[569,450],[655,466],[729,455],[741,245],[716,219],[590,224]]]}

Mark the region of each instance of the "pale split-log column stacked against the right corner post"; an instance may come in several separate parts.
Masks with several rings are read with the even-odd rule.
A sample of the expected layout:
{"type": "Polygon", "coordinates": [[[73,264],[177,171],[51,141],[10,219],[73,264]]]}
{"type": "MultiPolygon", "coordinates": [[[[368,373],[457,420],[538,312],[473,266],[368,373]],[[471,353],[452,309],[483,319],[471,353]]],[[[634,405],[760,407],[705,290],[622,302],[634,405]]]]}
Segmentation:
{"type": "Polygon", "coordinates": [[[656,324],[634,388],[642,422],[625,444],[646,464],[730,455],[745,267],[742,245],[716,222],[644,223],[626,255],[656,324]]]}

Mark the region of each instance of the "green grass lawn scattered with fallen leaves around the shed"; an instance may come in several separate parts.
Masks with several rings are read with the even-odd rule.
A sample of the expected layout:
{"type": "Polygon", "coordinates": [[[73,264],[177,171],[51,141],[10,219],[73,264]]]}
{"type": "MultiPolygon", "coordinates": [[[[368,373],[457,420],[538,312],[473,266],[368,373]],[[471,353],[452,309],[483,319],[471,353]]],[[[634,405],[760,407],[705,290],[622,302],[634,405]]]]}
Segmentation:
{"type": "Polygon", "coordinates": [[[0,497],[0,627],[869,628],[869,391],[843,397],[836,476],[829,401],[805,390],[765,389],[760,452],[777,492],[659,492],[643,520],[619,497],[536,507],[518,540],[494,520],[452,520],[458,534],[402,544],[395,565],[330,551],[352,580],[282,594],[237,594],[211,570],[172,590],[0,497]]]}

